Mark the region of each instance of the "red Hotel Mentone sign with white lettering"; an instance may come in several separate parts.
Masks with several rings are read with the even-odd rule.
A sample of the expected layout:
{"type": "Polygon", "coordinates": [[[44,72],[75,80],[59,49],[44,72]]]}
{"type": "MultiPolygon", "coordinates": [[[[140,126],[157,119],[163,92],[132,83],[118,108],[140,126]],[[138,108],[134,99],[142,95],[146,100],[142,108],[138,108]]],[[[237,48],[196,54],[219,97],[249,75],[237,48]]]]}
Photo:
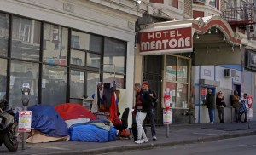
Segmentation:
{"type": "Polygon", "coordinates": [[[192,26],[159,26],[139,32],[141,55],[192,52],[192,26]]]}

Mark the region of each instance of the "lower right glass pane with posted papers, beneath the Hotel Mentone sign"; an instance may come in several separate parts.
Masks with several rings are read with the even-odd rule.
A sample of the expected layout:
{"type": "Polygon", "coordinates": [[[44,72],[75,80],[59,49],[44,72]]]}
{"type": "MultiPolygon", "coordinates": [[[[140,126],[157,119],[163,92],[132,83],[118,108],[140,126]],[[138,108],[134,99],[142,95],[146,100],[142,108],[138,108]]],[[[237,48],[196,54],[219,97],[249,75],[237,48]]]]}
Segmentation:
{"type": "Polygon", "coordinates": [[[188,108],[188,84],[177,83],[177,107],[188,108]]]}

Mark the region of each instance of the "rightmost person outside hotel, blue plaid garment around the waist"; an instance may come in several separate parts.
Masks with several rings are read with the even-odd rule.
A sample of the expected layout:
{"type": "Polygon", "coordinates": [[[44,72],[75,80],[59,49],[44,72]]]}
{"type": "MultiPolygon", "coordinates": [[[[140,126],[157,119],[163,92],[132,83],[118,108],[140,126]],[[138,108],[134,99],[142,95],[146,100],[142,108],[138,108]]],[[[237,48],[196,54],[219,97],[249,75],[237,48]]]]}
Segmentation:
{"type": "Polygon", "coordinates": [[[244,122],[247,123],[247,105],[248,105],[248,100],[247,100],[247,93],[243,94],[243,97],[241,100],[239,100],[240,106],[239,106],[239,115],[238,115],[238,123],[241,123],[241,116],[244,114],[244,122]]]}

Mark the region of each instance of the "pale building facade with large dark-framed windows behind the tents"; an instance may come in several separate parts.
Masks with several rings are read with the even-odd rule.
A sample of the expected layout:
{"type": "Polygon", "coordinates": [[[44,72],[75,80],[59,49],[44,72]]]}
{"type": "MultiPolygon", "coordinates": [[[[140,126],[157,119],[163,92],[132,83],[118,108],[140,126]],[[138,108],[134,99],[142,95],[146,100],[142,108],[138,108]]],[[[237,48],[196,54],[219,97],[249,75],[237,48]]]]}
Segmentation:
{"type": "Polygon", "coordinates": [[[137,3],[1,1],[0,95],[21,106],[21,85],[34,104],[81,103],[96,82],[117,83],[133,104],[137,3]]]}

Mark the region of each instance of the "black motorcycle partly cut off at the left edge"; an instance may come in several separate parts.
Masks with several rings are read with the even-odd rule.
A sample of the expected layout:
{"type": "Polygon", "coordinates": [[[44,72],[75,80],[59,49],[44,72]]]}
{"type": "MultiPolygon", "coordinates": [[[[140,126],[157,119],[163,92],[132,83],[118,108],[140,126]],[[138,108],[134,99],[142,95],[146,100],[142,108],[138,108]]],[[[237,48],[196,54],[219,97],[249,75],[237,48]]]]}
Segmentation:
{"type": "Polygon", "coordinates": [[[8,102],[0,100],[0,146],[4,145],[8,148],[9,152],[17,152],[18,141],[15,136],[15,113],[12,109],[8,109],[8,102]]]}

